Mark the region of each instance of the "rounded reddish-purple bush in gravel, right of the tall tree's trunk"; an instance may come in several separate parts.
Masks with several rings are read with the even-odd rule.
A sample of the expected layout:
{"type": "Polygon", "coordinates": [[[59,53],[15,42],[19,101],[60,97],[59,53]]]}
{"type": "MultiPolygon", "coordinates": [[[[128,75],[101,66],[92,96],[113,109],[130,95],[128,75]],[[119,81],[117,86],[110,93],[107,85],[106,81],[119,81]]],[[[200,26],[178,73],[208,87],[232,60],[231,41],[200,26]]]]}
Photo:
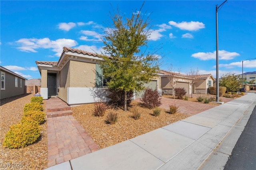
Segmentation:
{"type": "Polygon", "coordinates": [[[161,98],[157,89],[146,89],[140,100],[143,105],[149,109],[153,109],[154,107],[161,105],[161,98]]]}

